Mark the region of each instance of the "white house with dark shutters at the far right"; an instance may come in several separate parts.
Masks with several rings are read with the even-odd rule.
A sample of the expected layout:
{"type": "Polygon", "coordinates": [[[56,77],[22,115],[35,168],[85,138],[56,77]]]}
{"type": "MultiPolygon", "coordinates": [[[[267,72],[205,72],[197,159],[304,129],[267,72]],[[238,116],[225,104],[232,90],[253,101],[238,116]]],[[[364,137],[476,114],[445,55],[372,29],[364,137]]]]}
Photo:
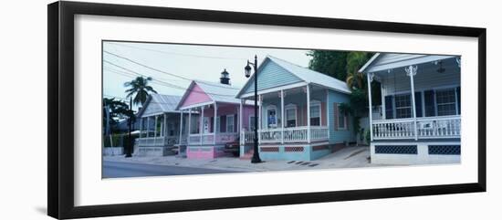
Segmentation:
{"type": "Polygon", "coordinates": [[[372,163],[460,162],[460,57],[378,53],[360,71],[382,85],[381,119],[369,114],[372,163]]]}

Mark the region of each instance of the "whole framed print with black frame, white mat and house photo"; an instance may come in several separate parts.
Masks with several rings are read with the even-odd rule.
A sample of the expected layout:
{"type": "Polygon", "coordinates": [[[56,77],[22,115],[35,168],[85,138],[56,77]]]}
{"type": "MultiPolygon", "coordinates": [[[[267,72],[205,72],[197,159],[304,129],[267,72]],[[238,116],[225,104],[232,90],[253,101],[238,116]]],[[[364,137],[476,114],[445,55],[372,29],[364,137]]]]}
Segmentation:
{"type": "Polygon", "coordinates": [[[47,185],[56,218],[485,192],[486,29],[50,4],[47,185]]]}

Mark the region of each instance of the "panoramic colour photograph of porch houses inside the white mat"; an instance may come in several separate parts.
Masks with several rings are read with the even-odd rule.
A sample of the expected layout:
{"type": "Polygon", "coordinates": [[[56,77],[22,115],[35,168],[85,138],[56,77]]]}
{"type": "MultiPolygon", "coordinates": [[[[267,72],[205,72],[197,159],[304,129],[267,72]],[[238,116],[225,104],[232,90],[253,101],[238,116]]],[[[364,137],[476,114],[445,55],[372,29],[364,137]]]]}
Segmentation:
{"type": "Polygon", "coordinates": [[[461,164],[461,56],[101,41],[101,177],[461,164]]]}

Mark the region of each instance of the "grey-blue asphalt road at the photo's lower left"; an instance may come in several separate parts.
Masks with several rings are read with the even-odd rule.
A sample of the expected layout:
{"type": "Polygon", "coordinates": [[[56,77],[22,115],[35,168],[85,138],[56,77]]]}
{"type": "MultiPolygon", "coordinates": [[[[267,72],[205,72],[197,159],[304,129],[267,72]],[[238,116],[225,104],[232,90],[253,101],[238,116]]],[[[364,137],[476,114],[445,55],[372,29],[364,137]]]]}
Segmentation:
{"type": "Polygon", "coordinates": [[[215,169],[195,168],[195,167],[103,161],[103,178],[189,175],[189,174],[209,174],[209,173],[235,173],[235,172],[215,170],[215,169]]]}

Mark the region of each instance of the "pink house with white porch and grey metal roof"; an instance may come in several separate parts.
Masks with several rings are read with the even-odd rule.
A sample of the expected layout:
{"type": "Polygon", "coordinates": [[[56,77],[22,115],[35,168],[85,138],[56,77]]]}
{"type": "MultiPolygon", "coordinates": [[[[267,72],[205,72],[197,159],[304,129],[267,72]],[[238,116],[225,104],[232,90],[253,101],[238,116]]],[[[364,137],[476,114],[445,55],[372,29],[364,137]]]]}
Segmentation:
{"type": "MultiPolygon", "coordinates": [[[[215,158],[225,155],[225,143],[239,142],[239,117],[249,117],[252,105],[235,95],[239,89],[227,84],[193,80],[183,94],[177,110],[188,114],[187,158],[215,158]],[[242,110],[241,110],[242,109],[242,110]],[[242,113],[241,113],[242,112],[242,113]]],[[[183,120],[183,117],[182,117],[183,120]]],[[[242,122],[248,127],[247,120],[242,122]]]]}

